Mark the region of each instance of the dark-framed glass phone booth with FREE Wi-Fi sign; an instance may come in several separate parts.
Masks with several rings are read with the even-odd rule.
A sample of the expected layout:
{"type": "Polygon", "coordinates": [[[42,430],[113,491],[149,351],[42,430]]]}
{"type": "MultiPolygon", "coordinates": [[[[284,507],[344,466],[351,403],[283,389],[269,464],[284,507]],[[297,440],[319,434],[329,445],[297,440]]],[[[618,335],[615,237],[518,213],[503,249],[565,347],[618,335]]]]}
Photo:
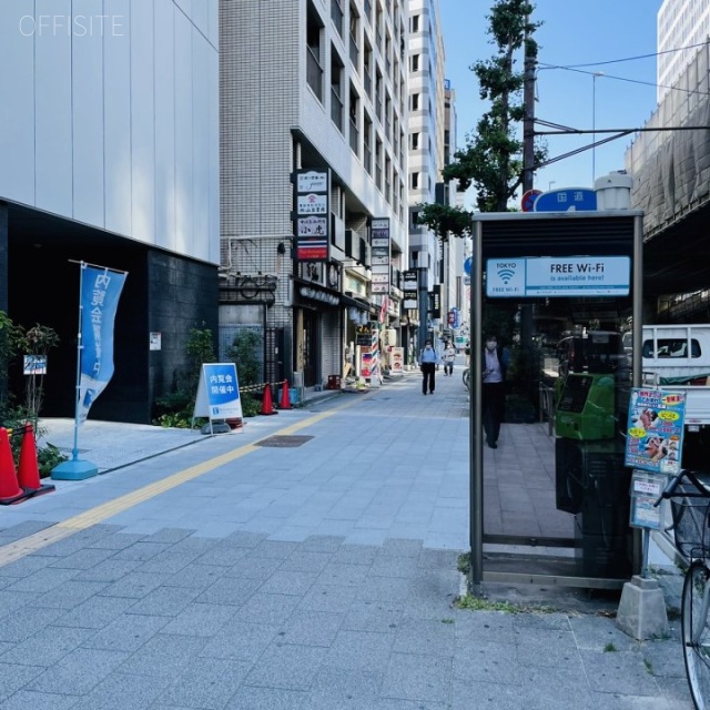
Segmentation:
{"type": "Polygon", "coordinates": [[[641,313],[641,212],[475,215],[471,382],[486,383],[486,334],[507,355],[495,446],[471,386],[474,589],[621,589],[639,571],[623,454],[641,313]]]}

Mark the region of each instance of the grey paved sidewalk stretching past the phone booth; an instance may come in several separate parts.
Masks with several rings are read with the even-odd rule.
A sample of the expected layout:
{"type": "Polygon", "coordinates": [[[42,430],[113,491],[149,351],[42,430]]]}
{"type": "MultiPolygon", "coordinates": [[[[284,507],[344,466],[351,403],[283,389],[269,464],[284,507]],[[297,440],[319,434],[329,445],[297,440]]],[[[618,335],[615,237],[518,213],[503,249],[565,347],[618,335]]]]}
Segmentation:
{"type": "Polygon", "coordinates": [[[88,422],[106,473],[0,508],[0,709],[690,710],[676,619],[637,642],[594,597],[454,606],[469,420],[442,375],[241,434],[88,422]]]}

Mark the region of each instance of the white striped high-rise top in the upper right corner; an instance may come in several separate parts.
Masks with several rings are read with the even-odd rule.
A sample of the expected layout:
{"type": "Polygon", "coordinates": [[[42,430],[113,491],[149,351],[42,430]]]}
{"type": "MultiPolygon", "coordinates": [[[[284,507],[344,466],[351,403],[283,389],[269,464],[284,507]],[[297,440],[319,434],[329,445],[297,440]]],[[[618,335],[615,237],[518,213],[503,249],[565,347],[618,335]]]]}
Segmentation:
{"type": "Polygon", "coordinates": [[[710,37],[710,0],[663,0],[657,16],[658,102],[710,37]]]}

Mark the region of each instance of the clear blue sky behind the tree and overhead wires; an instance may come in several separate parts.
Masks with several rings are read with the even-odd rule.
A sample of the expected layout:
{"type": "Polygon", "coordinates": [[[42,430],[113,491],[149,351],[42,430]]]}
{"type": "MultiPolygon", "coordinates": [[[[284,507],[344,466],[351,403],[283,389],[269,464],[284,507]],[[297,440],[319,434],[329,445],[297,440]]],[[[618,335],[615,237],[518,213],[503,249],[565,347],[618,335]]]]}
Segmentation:
{"type": "MultiPolygon", "coordinates": [[[[535,33],[539,45],[536,118],[580,130],[642,128],[657,105],[656,16],[662,0],[532,1],[532,19],[542,23],[535,33]],[[602,75],[595,78],[595,72],[602,75]]],[[[489,108],[479,99],[476,74],[469,67],[496,52],[486,33],[491,6],[493,0],[439,0],[446,77],[456,92],[459,148],[489,108]]],[[[521,55],[519,61],[521,71],[521,55]]],[[[537,125],[536,130],[551,129],[537,125]]],[[[597,141],[609,135],[598,133],[597,141]]],[[[548,135],[545,140],[550,159],[594,142],[591,134],[548,135]]],[[[600,178],[623,170],[623,153],[631,141],[632,135],[627,135],[552,162],[536,173],[535,187],[544,192],[592,187],[592,172],[600,178]]],[[[471,190],[464,206],[473,209],[474,203],[471,190]]]]}

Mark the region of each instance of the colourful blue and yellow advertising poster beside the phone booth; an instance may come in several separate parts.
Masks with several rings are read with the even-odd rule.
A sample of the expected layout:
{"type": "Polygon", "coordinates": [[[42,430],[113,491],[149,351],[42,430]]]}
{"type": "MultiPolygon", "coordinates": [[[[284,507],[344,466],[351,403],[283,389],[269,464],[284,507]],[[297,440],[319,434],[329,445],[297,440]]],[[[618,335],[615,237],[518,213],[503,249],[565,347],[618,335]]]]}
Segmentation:
{"type": "Polygon", "coordinates": [[[631,389],[625,465],[677,474],[683,444],[686,395],[666,389],[631,389]]]}

